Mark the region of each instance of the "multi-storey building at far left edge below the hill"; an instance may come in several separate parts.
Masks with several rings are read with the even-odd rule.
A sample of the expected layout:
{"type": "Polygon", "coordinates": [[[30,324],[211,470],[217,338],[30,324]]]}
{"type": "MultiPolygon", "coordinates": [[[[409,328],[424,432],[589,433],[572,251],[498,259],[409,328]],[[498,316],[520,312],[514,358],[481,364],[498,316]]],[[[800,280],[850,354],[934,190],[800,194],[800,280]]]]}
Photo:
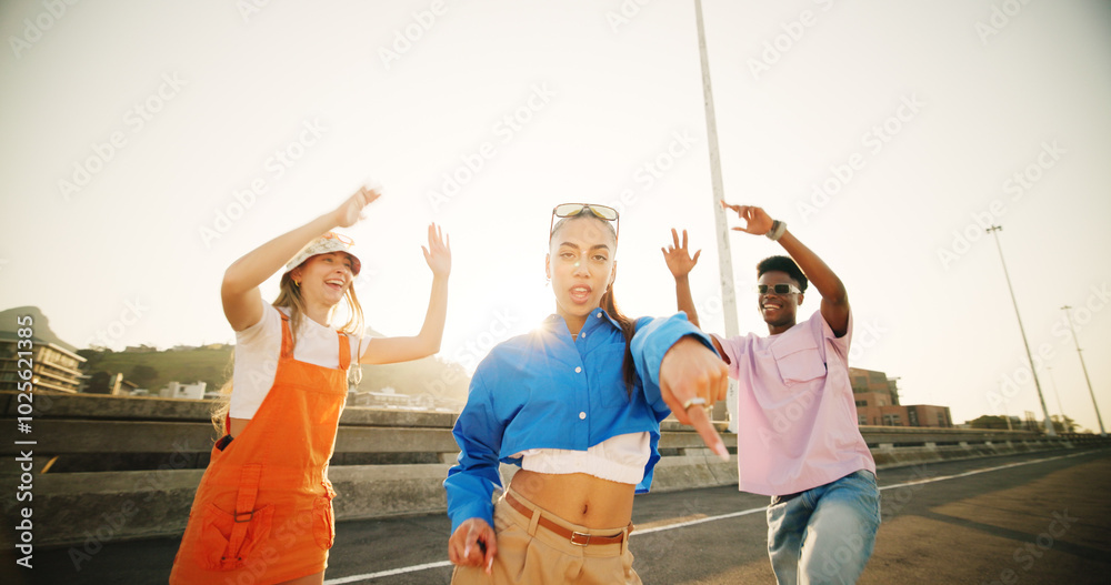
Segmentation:
{"type": "MultiPolygon", "coordinates": [[[[26,351],[19,349],[20,340],[28,341],[16,332],[0,332],[0,390],[19,390],[19,383],[23,382],[20,372],[27,370],[27,362],[20,364],[19,361],[28,359],[31,363],[30,382],[36,391],[74,393],[81,387],[84,375],[80,369],[84,357],[34,336],[30,337],[30,354],[20,355],[26,351]]],[[[26,343],[23,345],[27,346],[26,343]]]]}

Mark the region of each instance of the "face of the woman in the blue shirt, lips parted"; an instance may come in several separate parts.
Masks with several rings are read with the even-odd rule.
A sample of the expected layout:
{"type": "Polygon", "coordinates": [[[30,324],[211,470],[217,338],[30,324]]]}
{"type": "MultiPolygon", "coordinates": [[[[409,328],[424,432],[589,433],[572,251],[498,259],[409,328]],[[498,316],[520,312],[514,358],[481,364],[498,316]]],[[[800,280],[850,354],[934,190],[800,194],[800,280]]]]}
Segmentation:
{"type": "Polygon", "coordinates": [[[556,313],[577,333],[617,274],[617,240],[604,220],[579,215],[552,234],[546,271],[556,294],[556,313]]]}

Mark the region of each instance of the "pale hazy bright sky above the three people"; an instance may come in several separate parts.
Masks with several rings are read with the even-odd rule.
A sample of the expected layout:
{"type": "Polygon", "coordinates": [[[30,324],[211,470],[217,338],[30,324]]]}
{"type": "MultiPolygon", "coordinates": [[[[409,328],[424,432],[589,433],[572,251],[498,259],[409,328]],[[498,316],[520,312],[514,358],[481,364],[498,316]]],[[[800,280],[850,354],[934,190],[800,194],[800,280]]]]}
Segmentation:
{"type": "MultiPolygon", "coordinates": [[[[380,332],[420,326],[432,221],[454,256],[442,356],[473,367],[533,327],[567,201],[622,211],[632,315],[674,311],[660,246],[689,229],[703,325],[724,330],[692,1],[58,4],[0,4],[0,309],[38,305],[79,347],[231,342],[223,270],[366,178],[386,195],[348,233],[380,332]]],[[[1097,425],[1069,304],[1111,416],[1111,4],[703,11],[725,198],[787,221],[844,281],[850,365],[957,422],[1040,417],[978,225],[999,223],[1050,412],[1055,385],[1097,425]]],[[[749,290],[780,250],[731,245],[740,330],[765,333],[749,290]]]]}

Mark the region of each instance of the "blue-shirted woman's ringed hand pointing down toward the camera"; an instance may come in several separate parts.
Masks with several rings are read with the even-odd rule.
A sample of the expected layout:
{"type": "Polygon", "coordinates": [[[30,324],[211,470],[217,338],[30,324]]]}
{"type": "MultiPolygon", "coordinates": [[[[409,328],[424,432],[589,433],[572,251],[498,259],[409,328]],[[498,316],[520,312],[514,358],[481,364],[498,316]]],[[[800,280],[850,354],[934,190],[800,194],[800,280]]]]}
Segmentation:
{"type": "Polygon", "coordinates": [[[709,410],[729,392],[729,369],[712,350],[694,337],[683,337],[663,354],[660,393],[675,418],[698,431],[705,446],[723,461],[729,451],[710,421],[709,410]],[[701,399],[702,404],[698,404],[701,399]],[[684,409],[688,401],[695,400],[684,409]]]}

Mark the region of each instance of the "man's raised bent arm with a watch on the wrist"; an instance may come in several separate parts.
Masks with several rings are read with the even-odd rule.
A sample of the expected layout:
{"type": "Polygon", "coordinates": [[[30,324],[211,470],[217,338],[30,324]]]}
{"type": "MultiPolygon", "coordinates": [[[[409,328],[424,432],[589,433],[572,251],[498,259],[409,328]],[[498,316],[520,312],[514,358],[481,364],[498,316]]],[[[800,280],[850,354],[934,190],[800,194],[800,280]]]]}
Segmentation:
{"type": "MultiPolygon", "coordinates": [[[[733,230],[763,235],[772,230],[774,220],[764,210],[753,205],[730,205],[724,201],[721,204],[731,209],[745,221],[744,228],[733,228],[733,230]]],[[[822,319],[829,323],[830,329],[837,336],[842,336],[849,330],[849,293],[844,290],[841,279],[822,259],[818,258],[813,251],[803,245],[790,231],[783,228],[782,234],[777,240],[783,250],[799,264],[802,273],[807,275],[810,283],[818,289],[822,295],[822,319]]]]}

